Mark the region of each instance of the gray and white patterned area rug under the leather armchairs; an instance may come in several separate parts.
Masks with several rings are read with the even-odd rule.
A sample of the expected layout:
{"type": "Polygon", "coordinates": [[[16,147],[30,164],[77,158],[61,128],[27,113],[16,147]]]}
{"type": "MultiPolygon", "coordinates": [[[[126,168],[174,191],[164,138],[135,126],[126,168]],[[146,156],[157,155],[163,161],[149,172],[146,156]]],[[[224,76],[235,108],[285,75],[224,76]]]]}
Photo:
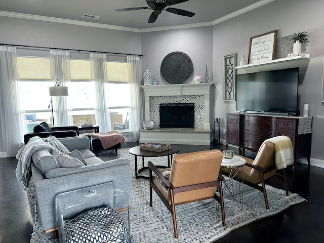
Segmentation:
{"type": "MultiPolygon", "coordinates": [[[[117,157],[125,157],[131,161],[134,168],[134,155],[128,149],[100,153],[104,161],[117,157]]],[[[167,165],[166,157],[145,158],[155,165],[167,165]]],[[[141,168],[142,160],[138,161],[141,168]]],[[[145,173],[145,172],[144,172],[145,173]]],[[[225,178],[227,179],[227,178],[225,178]]],[[[278,214],[289,207],[306,201],[296,193],[286,196],[284,190],[267,186],[270,209],[266,210],[263,194],[249,186],[244,186],[242,192],[242,210],[238,200],[224,189],[226,226],[222,225],[221,210],[214,199],[200,201],[176,207],[179,238],[174,237],[172,215],[153,191],[153,207],[149,206],[149,181],[135,179],[133,171],[132,209],[130,210],[130,234],[133,243],[150,242],[214,242],[231,231],[261,218],[278,214]]],[[[34,229],[30,242],[59,242],[52,234],[44,234],[39,221],[38,207],[35,202],[33,186],[27,190],[31,208],[34,207],[34,229]],[[33,206],[33,204],[35,206],[33,206]]]]}

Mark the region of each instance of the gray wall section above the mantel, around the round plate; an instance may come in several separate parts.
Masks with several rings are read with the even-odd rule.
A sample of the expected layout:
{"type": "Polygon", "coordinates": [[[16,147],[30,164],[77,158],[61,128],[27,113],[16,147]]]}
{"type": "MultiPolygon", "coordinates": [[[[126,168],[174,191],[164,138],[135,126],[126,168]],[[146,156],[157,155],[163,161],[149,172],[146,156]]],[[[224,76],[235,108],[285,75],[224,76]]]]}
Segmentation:
{"type": "MultiPolygon", "coordinates": [[[[195,76],[204,78],[206,64],[212,79],[213,66],[213,27],[187,28],[156,31],[142,34],[143,68],[148,69],[158,85],[169,84],[160,73],[163,59],[171,52],[187,54],[193,64],[193,73],[185,81],[194,83],[195,76]]],[[[210,81],[212,82],[212,81],[210,81]]]]}

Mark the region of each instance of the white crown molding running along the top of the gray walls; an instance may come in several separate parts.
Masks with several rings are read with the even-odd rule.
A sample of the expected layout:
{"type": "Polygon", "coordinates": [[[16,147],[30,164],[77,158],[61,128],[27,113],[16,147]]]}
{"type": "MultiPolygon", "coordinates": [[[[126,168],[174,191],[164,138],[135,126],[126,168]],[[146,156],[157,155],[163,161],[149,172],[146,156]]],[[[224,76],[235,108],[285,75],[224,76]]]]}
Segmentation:
{"type": "Polygon", "coordinates": [[[14,13],[14,12],[7,12],[7,11],[0,11],[0,16],[144,33],[144,32],[154,32],[154,31],[164,31],[164,30],[174,30],[174,29],[213,26],[213,25],[216,25],[218,23],[224,22],[224,21],[226,21],[228,19],[234,18],[234,17],[236,17],[238,15],[241,15],[241,14],[244,14],[244,13],[249,12],[251,10],[254,10],[256,8],[259,8],[259,7],[263,6],[263,5],[271,3],[273,1],[275,1],[275,0],[261,0],[261,1],[257,2],[257,3],[255,3],[255,4],[252,4],[252,5],[250,5],[250,6],[246,7],[246,8],[235,11],[235,12],[233,12],[231,14],[228,14],[228,15],[226,15],[224,17],[216,19],[216,20],[214,20],[212,22],[174,25],[174,26],[164,26],[164,27],[154,27],[154,28],[143,28],[143,29],[130,28],[130,27],[124,27],[124,26],[117,26],[117,25],[109,25],[109,24],[91,23],[91,22],[85,22],[85,21],[79,21],[79,20],[71,20],[71,19],[54,18],[54,17],[47,17],[47,16],[41,16],[41,15],[14,13]]]}

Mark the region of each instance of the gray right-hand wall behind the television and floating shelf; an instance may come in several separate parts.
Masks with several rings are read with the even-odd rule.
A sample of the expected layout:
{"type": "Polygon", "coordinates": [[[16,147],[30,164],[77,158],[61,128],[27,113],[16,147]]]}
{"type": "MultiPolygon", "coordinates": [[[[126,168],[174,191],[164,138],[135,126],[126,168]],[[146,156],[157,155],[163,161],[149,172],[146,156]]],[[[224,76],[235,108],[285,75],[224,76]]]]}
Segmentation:
{"type": "MultiPolygon", "coordinates": [[[[235,102],[223,101],[223,56],[237,53],[239,57],[249,52],[250,37],[278,30],[277,37],[294,32],[306,31],[309,43],[306,53],[310,62],[305,75],[300,75],[299,109],[309,104],[309,115],[313,116],[311,157],[313,164],[324,159],[322,149],[324,138],[324,109],[321,103],[321,86],[324,52],[324,1],[285,0],[274,1],[263,7],[242,14],[214,26],[213,34],[213,73],[216,83],[215,116],[225,119],[226,113],[235,112],[235,102]]],[[[323,161],[321,161],[323,162],[323,161]]]]}

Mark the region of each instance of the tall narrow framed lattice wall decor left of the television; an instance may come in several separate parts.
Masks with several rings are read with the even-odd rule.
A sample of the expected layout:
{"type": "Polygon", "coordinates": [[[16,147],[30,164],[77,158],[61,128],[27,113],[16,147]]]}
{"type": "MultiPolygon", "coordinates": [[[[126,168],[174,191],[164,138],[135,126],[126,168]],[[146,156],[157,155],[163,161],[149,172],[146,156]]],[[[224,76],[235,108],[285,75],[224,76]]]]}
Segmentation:
{"type": "Polygon", "coordinates": [[[235,100],[236,53],[224,56],[224,100],[235,100]]]}

